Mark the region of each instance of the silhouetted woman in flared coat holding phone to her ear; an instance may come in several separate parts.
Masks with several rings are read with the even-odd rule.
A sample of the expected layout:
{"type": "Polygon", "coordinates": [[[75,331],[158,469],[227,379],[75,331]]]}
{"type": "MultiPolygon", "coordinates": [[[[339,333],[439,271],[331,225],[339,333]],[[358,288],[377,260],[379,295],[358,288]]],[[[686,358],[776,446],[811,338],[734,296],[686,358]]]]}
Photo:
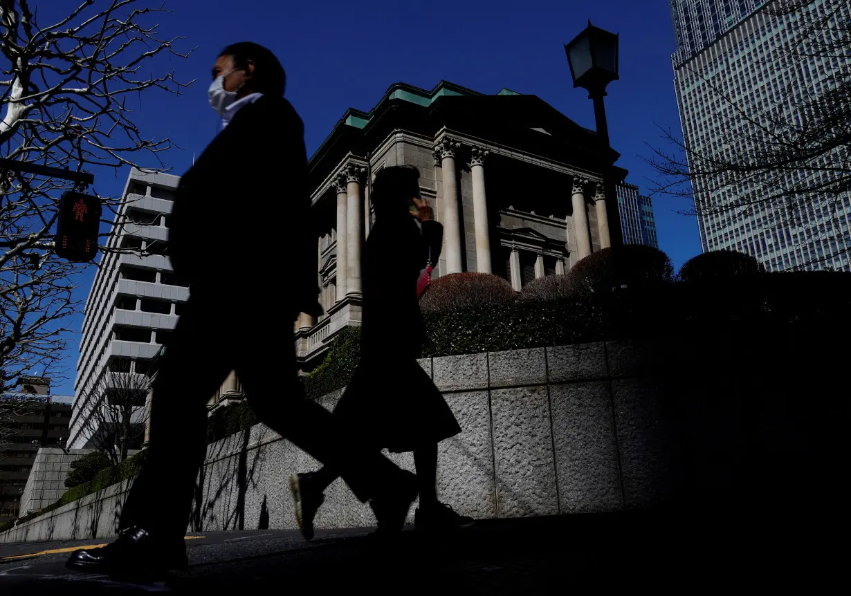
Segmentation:
{"type": "MultiPolygon", "coordinates": [[[[426,335],[417,279],[427,262],[437,263],[443,243],[443,225],[432,218],[419,179],[415,167],[386,167],[376,175],[371,197],[376,222],[363,252],[361,361],[334,416],[344,417],[376,447],[414,451],[420,488],[417,530],[447,531],[473,519],[437,500],[437,443],[461,429],[416,361],[426,335]]],[[[323,491],[337,475],[326,466],[290,478],[296,517],[307,540],[313,537],[323,491]]]]}

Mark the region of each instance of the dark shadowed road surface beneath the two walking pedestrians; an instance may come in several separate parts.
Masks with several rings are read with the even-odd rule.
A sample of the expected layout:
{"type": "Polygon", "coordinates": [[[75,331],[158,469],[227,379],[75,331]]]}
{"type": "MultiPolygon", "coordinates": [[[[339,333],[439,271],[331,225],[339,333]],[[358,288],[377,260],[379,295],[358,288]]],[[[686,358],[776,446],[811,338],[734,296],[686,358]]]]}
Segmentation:
{"type": "MultiPolygon", "coordinates": [[[[576,594],[638,587],[698,592],[832,582],[841,569],[813,542],[740,524],[631,514],[484,520],[456,536],[409,528],[391,545],[368,531],[215,531],[186,536],[190,567],[151,580],[66,570],[68,554],[106,540],[0,544],[0,594],[576,594]],[[804,562],[806,560],[806,563],[804,562]]],[[[837,545],[838,546],[838,545],[837,545]]],[[[841,550],[841,549],[840,549],[841,550]]],[[[839,553],[840,550],[831,551],[839,553]]],[[[842,551],[844,552],[844,551],[842,551]]],[[[838,562],[844,560],[844,555],[838,562]]],[[[843,582],[844,583],[844,582],[843,582]]]]}

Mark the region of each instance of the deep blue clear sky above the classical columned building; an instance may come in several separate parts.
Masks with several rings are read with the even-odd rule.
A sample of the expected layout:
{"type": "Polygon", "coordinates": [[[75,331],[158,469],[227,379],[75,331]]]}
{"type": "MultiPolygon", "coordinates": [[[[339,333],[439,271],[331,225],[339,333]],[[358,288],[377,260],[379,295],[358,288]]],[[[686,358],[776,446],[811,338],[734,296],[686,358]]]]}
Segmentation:
{"type": "MultiPolygon", "coordinates": [[[[35,4],[43,14],[69,5],[67,0],[35,4]]],[[[627,180],[646,192],[648,179],[654,178],[641,159],[651,152],[646,144],[664,145],[657,125],[679,132],[670,58],[673,31],[667,3],[659,0],[169,0],[166,8],[171,13],[156,19],[163,36],[184,36],[175,47],[196,49],[186,60],[157,60],[146,68],[173,70],[179,80],[197,82],[180,96],[145,94],[136,106],[136,122],[147,137],[169,137],[180,146],[166,156],[177,174],[217,131],[218,118],[207,104],[208,73],[220,49],[237,41],[266,45],[281,60],[288,76],[286,96],[305,122],[309,155],[347,108],[368,111],[393,82],[430,89],[445,79],[486,94],[507,87],[538,95],[594,128],[591,100],[573,88],[563,50],[589,19],[620,33],[620,81],[609,85],[606,108],[612,146],[621,154],[618,165],[631,172],[627,180]]],[[[127,173],[98,173],[99,194],[119,195],[127,173]]],[[[688,208],[683,199],[654,197],[660,247],[677,267],[700,253],[695,220],[675,213],[683,208],[688,208]]],[[[83,298],[93,276],[89,271],[79,280],[83,298]]],[[[77,316],[71,327],[81,326],[82,316],[77,316]]],[[[54,385],[56,393],[73,391],[78,342],[79,334],[72,335],[66,379],[54,385]]]]}

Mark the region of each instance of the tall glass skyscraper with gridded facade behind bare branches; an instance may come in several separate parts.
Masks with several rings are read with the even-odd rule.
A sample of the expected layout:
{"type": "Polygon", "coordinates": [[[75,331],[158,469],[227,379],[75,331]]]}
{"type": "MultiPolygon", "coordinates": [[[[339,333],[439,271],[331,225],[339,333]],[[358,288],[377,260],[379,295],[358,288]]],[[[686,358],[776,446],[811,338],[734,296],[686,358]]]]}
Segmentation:
{"type": "MultiPolygon", "coordinates": [[[[774,14],[774,2],[670,0],[670,5],[677,39],[671,59],[689,156],[734,161],[754,155],[762,149],[755,140],[761,127],[771,128],[770,122],[778,119],[799,127],[802,107],[795,104],[806,105],[848,78],[847,51],[791,58],[803,28],[802,14],[774,14]]],[[[847,30],[851,19],[848,0],[814,0],[805,10],[808,19],[825,18],[822,31],[830,31],[825,35],[847,30]],[[832,17],[829,11],[835,11],[832,17]]],[[[847,159],[848,149],[837,149],[819,156],[807,171],[693,179],[703,250],[749,253],[769,271],[851,270],[848,192],[818,195],[808,190],[823,184],[831,175],[826,172],[847,159]],[[780,198],[765,200],[767,196],[780,198]]],[[[689,165],[694,165],[691,158],[689,165]]]]}

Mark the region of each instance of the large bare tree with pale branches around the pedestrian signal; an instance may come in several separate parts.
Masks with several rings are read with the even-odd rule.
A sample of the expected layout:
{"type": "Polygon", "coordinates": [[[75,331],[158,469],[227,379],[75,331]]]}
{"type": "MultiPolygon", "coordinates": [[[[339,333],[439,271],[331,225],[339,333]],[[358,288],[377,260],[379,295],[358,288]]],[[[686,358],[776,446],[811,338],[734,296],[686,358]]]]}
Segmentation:
{"type": "MultiPolygon", "coordinates": [[[[149,89],[179,94],[185,85],[171,72],[149,73],[164,70],[163,57],[187,54],[174,49],[180,37],[158,34],[152,19],[163,7],[139,4],[68,0],[64,16],[42,22],[29,0],[0,0],[3,157],[74,172],[117,171],[140,159],[167,169],[160,155],[171,143],[143,135],[134,101],[149,89]]],[[[22,372],[49,368],[65,349],[65,324],[78,307],[73,274],[85,265],[57,258],[51,237],[61,193],[72,187],[0,169],[0,390],[14,389],[22,372]]],[[[105,213],[117,212],[120,197],[101,199],[105,213]]]]}

